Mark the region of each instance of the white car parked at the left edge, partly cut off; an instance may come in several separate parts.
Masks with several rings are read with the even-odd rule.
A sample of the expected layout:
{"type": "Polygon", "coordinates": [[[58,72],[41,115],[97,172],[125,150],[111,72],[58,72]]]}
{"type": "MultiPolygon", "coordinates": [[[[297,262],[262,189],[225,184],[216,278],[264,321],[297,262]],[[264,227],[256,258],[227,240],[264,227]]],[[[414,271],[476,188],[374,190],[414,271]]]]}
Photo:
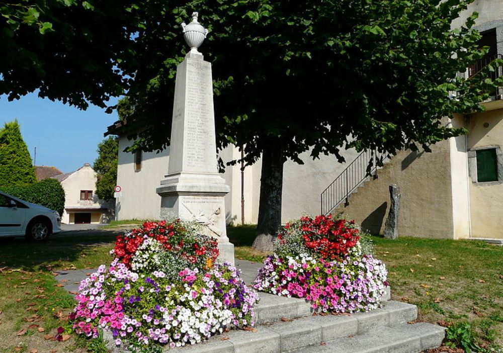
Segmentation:
{"type": "Polygon", "coordinates": [[[28,240],[47,240],[61,231],[56,211],[0,192],[0,237],[25,236],[28,240]]]}

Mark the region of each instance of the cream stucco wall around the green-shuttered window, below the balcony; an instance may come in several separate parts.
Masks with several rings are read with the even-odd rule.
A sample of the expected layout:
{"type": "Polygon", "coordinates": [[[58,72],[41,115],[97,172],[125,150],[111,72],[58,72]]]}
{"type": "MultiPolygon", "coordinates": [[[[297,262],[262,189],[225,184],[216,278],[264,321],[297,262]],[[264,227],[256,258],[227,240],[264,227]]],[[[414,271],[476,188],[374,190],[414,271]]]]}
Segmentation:
{"type": "MultiPolygon", "coordinates": [[[[469,150],[496,146],[503,149],[503,109],[471,115],[467,128],[469,150]]],[[[469,186],[472,236],[503,238],[503,181],[477,183],[470,178],[469,186]]]]}

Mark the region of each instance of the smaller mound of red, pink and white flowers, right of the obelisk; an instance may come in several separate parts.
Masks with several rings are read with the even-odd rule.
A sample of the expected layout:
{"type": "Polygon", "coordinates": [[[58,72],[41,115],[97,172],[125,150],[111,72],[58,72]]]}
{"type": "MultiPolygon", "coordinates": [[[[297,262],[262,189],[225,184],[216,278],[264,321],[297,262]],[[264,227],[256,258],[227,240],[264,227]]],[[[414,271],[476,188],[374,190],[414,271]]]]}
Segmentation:
{"type": "Polygon", "coordinates": [[[302,217],[287,224],[264,260],[254,288],[305,298],[323,312],[375,309],[384,294],[384,264],[362,247],[354,221],[302,217]]]}

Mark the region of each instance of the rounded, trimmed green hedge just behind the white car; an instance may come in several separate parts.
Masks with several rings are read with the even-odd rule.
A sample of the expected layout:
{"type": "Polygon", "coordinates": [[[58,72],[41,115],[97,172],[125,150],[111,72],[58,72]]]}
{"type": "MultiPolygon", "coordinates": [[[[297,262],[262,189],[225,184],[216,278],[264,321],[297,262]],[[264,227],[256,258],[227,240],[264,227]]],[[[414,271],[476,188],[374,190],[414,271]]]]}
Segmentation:
{"type": "Polygon", "coordinates": [[[60,216],[63,214],[64,190],[55,179],[44,179],[25,186],[2,186],[0,190],[21,200],[58,211],[60,216]]]}

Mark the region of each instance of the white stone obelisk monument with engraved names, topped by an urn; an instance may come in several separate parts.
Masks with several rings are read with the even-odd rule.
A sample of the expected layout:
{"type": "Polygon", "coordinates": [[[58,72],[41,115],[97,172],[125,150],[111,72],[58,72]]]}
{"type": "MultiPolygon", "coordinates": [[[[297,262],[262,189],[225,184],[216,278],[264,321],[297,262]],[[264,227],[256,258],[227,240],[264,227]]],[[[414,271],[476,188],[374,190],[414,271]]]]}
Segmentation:
{"type": "Polygon", "coordinates": [[[197,18],[195,12],[191,23],[182,23],[191,50],[177,67],[169,167],[156,191],[161,218],[201,223],[218,240],[219,260],[234,263],[225,224],[224,196],[230,188],[217,169],[211,63],[197,50],[208,30],[197,18]]]}

